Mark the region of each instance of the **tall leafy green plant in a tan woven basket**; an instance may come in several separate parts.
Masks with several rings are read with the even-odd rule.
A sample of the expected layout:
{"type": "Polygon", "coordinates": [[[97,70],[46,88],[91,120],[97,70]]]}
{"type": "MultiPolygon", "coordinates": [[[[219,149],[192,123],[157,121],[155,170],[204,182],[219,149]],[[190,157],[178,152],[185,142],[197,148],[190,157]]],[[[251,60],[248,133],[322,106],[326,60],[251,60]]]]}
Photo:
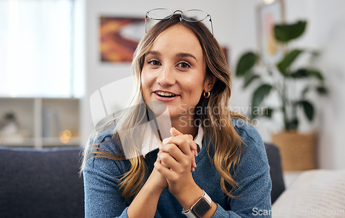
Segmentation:
{"type": "Polygon", "coordinates": [[[306,29],[306,21],[292,24],[276,24],[274,35],[278,45],[284,50],[280,60],[271,65],[264,63],[259,52],[246,52],[237,63],[236,76],[244,79],[244,89],[257,85],[251,100],[250,118],[265,116],[272,118],[279,113],[282,118],[282,132],[273,135],[282,155],[284,171],[315,168],[315,133],[299,133],[301,116],[313,121],[315,107],[308,94],[315,91],[319,95],[327,93],[324,76],[315,67],[297,67],[301,56],[317,56],[317,52],[293,48],[290,42],[298,39],[306,29]],[[269,97],[279,99],[279,106],[267,105],[269,97]],[[303,113],[299,113],[299,111],[303,113]],[[306,162],[307,161],[307,162],[306,162]]]}

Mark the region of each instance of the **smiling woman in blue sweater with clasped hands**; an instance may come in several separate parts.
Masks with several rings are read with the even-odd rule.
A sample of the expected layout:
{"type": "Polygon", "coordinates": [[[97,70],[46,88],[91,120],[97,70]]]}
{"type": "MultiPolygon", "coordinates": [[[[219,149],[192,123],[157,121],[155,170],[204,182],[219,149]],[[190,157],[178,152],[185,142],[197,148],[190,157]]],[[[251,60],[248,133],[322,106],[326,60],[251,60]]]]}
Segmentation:
{"type": "Polygon", "coordinates": [[[172,14],[135,51],[137,106],[93,135],[84,151],[86,217],[256,217],[254,211],[270,211],[264,144],[246,118],[228,110],[224,54],[203,23],[172,14]],[[157,111],[155,102],[167,110],[157,111]],[[137,132],[122,132],[159,116],[170,118],[170,137],[158,131],[159,149],[141,153],[137,132]]]}

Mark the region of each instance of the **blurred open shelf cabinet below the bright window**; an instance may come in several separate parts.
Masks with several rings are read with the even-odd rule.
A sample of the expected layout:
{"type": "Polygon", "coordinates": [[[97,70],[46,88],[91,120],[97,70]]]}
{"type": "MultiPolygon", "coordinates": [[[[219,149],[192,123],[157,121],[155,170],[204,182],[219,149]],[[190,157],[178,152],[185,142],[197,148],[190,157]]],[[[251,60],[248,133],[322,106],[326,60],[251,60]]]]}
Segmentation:
{"type": "Polygon", "coordinates": [[[0,98],[0,146],[80,146],[78,98],[0,98]]]}

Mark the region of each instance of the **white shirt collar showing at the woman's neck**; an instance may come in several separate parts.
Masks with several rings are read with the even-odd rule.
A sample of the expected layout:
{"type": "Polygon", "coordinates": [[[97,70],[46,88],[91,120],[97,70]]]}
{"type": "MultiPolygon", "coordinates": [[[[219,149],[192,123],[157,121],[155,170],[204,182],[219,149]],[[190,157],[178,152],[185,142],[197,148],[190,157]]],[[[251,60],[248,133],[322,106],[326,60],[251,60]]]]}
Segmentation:
{"type": "MultiPolygon", "coordinates": [[[[148,128],[148,133],[145,133],[146,137],[144,138],[144,142],[141,147],[141,154],[146,157],[146,155],[159,148],[159,144],[161,144],[161,141],[153,130],[151,128],[148,128]]],[[[199,124],[198,131],[197,131],[197,136],[194,139],[195,144],[199,146],[199,149],[201,150],[202,148],[202,139],[204,138],[204,129],[201,127],[201,124],[199,124]]]]}

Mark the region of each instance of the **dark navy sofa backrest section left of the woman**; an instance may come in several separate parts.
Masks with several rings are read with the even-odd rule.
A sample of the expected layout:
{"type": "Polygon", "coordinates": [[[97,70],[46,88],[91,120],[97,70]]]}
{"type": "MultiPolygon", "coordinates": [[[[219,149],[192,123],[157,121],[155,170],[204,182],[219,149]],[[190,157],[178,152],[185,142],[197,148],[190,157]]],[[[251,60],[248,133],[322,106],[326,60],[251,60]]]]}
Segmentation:
{"type": "Polygon", "coordinates": [[[0,147],[0,217],[83,217],[80,151],[0,147]]]}

